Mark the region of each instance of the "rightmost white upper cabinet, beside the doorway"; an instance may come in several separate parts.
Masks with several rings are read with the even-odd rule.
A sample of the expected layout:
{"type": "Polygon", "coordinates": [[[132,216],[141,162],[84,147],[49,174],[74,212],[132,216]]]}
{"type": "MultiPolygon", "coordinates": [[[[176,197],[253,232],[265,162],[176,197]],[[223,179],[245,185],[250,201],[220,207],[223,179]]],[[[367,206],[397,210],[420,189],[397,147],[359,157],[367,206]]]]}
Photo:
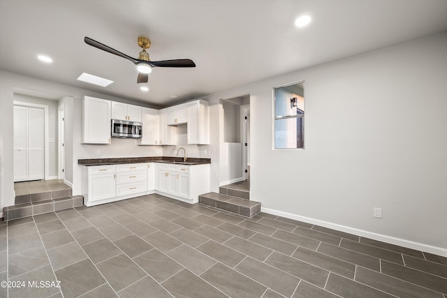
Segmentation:
{"type": "Polygon", "coordinates": [[[205,100],[188,103],[188,144],[210,144],[210,108],[205,100]]]}

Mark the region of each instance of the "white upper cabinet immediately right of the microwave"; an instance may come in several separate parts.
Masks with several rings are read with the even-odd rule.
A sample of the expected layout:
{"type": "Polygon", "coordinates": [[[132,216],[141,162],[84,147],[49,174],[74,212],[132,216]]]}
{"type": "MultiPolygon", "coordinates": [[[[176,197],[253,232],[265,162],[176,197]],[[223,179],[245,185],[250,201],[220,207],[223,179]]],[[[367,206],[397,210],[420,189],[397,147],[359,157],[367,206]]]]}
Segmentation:
{"type": "Polygon", "coordinates": [[[161,145],[160,112],[149,107],[142,107],[142,137],[138,145],[161,145]]]}

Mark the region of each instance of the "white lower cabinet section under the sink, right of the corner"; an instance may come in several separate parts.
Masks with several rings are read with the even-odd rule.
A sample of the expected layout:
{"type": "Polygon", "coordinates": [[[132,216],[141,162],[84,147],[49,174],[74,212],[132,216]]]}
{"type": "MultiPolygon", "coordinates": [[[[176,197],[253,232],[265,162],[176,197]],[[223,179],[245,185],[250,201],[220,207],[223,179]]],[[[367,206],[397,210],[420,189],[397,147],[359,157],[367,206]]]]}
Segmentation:
{"type": "Polygon", "coordinates": [[[155,190],[170,198],[196,203],[199,195],[210,192],[210,165],[156,163],[155,190]]]}

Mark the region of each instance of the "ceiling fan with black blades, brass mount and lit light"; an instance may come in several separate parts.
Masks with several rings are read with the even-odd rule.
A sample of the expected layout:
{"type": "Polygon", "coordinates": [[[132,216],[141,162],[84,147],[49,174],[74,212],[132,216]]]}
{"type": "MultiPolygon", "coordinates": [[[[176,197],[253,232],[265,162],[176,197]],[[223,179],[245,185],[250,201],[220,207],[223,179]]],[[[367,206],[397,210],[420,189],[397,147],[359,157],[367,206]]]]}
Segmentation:
{"type": "Polygon", "coordinates": [[[138,69],[137,83],[147,83],[147,74],[151,73],[152,67],[196,67],[196,64],[194,64],[191,59],[151,61],[149,59],[149,54],[146,52],[146,49],[149,49],[149,47],[151,46],[151,40],[143,36],[138,37],[138,45],[142,47],[142,51],[138,55],[138,59],[123,54],[122,52],[112,49],[112,47],[104,45],[103,43],[99,43],[98,41],[93,40],[87,36],[85,36],[84,41],[85,43],[87,43],[87,45],[97,47],[99,50],[103,50],[105,52],[109,52],[132,61],[132,63],[135,64],[138,69]]]}

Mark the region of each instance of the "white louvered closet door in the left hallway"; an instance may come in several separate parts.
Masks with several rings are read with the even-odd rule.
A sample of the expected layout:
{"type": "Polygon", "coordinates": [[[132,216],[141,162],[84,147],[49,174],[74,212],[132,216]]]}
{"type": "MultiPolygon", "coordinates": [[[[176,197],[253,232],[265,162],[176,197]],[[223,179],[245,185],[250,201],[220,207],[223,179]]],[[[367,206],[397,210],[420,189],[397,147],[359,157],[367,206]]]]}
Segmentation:
{"type": "Polygon", "coordinates": [[[44,110],[14,106],[14,181],[44,179],[44,110]]]}

